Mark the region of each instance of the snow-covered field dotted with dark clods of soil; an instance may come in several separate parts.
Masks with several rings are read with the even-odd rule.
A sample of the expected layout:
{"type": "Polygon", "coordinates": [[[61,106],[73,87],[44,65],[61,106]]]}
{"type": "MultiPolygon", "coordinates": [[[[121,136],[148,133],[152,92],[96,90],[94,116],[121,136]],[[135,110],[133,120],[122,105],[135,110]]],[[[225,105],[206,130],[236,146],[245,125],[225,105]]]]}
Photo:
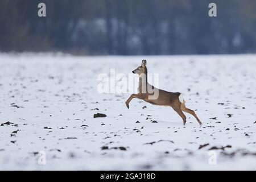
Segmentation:
{"type": "Polygon", "coordinates": [[[0,169],[255,170],[255,111],[256,55],[1,53],[0,169]],[[142,59],[203,126],[136,99],[127,109],[129,93],[98,93],[100,73],[128,75],[142,59]]]}

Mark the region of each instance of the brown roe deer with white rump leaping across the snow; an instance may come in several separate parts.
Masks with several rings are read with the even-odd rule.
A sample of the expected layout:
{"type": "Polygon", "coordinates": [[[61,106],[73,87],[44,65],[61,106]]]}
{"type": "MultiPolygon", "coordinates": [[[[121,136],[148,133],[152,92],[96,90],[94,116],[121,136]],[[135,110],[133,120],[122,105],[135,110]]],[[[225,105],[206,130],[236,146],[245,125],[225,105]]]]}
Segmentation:
{"type": "Polygon", "coordinates": [[[183,112],[189,113],[196,118],[199,125],[203,123],[197,117],[196,113],[192,109],[188,109],[185,106],[185,100],[183,98],[183,94],[180,92],[167,92],[166,90],[161,90],[155,88],[147,82],[147,61],[142,60],[141,65],[132,71],[135,74],[139,75],[139,86],[138,86],[138,94],[131,94],[131,96],[125,102],[126,107],[129,109],[130,101],[133,98],[138,98],[139,100],[143,100],[153,105],[159,106],[171,106],[172,109],[176,111],[177,114],[183,119],[183,125],[186,124],[186,116],[183,112]],[[158,93],[158,96],[155,98],[152,97],[154,93],[150,92],[150,90],[154,90],[154,93],[158,93]]]}

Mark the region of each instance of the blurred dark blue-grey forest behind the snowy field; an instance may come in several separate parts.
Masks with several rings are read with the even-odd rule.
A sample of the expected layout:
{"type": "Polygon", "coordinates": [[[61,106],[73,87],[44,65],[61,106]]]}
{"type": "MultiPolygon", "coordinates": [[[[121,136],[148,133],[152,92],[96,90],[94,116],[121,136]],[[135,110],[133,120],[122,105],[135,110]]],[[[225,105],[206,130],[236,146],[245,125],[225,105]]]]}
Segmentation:
{"type": "Polygon", "coordinates": [[[256,52],[255,0],[1,0],[0,52],[256,52]],[[46,3],[46,17],[38,3],[46,3]],[[217,17],[208,5],[217,4],[217,17]]]}

